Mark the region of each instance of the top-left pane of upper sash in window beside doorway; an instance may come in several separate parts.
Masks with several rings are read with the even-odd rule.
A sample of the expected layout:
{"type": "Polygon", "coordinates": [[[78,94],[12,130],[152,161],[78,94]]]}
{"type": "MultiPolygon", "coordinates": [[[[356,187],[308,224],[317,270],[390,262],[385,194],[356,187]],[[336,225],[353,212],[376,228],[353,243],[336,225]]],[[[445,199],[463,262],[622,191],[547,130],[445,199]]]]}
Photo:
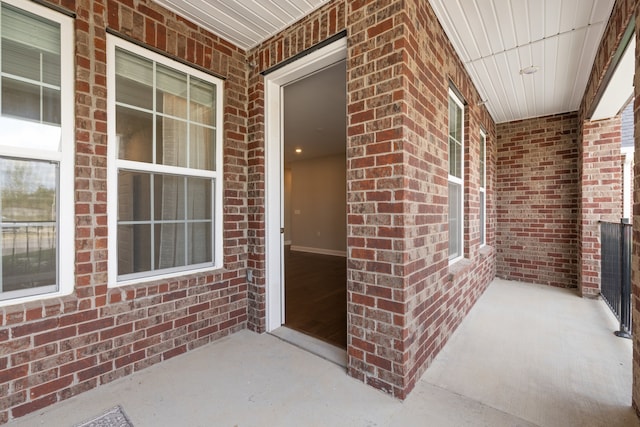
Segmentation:
{"type": "Polygon", "coordinates": [[[153,108],[153,63],[116,49],[116,101],[153,108]]]}

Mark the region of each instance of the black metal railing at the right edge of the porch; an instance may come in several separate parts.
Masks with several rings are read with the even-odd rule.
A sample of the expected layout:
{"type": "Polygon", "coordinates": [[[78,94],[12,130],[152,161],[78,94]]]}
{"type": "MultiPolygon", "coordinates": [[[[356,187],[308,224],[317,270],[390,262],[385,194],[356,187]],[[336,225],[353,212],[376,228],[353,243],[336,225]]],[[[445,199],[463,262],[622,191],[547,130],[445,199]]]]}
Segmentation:
{"type": "Polygon", "coordinates": [[[600,292],[620,321],[619,337],[631,337],[632,226],[600,222],[600,292]]]}

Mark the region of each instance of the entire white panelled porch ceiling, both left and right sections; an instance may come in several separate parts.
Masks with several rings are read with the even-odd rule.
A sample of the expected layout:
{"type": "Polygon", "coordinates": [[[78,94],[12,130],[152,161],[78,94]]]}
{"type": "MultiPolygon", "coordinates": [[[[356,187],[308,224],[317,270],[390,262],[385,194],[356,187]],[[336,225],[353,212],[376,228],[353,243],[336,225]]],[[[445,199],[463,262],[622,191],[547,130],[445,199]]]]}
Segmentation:
{"type": "MultiPolygon", "coordinates": [[[[155,1],[245,50],[328,2],[155,1]]],[[[502,123],[579,108],[615,0],[429,2],[489,113],[502,123]],[[521,74],[531,66],[538,72],[521,74]]]]}

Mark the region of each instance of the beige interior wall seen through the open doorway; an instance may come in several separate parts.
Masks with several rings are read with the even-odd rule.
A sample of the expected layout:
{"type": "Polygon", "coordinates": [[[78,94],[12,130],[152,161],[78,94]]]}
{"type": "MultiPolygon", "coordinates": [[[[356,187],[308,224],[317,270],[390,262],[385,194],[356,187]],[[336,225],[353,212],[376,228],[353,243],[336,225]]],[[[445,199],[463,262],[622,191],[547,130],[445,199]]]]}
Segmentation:
{"type": "Polygon", "coordinates": [[[346,255],[345,155],[296,161],[290,167],[291,249],[346,255]]]}

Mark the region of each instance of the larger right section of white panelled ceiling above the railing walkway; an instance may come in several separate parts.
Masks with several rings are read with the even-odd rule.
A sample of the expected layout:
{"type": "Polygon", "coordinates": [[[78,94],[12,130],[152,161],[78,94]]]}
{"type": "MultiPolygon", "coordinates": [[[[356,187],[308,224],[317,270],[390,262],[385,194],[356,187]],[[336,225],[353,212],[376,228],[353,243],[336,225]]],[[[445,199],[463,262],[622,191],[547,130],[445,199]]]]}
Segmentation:
{"type": "Polygon", "coordinates": [[[615,0],[429,2],[502,123],[578,110],[615,0]]]}

